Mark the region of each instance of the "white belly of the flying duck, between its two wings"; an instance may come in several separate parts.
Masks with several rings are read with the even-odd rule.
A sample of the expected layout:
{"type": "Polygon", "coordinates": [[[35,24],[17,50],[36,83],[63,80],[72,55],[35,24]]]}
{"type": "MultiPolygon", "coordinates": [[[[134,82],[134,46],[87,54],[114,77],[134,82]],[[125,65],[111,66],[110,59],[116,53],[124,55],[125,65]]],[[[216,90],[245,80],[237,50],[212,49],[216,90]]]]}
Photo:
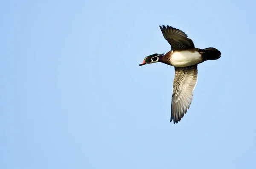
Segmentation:
{"type": "Polygon", "coordinates": [[[173,51],[169,59],[171,65],[175,67],[192,66],[203,60],[197,51],[173,51]]]}

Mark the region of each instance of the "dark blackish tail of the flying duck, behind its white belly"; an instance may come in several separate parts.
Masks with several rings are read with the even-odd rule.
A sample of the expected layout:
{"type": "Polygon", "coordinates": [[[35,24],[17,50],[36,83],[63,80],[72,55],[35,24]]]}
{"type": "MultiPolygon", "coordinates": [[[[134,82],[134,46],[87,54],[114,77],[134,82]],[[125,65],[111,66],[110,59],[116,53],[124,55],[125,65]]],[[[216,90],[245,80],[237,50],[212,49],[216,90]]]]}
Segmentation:
{"type": "Polygon", "coordinates": [[[199,49],[198,52],[202,55],[203,60],[217,60],[221,57],[221,52],[215,48],[199,49]]]}

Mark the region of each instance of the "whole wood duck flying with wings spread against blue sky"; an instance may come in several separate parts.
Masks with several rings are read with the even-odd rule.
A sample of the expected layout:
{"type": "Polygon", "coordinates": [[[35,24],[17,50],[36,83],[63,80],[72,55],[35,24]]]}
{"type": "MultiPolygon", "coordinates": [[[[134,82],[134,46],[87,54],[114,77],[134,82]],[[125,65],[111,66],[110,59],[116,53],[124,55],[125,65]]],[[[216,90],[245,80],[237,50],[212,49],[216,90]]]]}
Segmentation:
{"type": "Polygon", "coordinates": [[[207,60],[217,60],[221,52],[213,47],[195,48],[191,39],[185,32],[172,26],[160,26],[163,37],[171,45],[171,50],[166,54],[151,54],[144,58],[143,66],[151,63],[165,63],[174,66],[173,93],[171,103],[170,122],[178,123],[188,111],[193,91],[198,80],[198,64],[207,60]]]}

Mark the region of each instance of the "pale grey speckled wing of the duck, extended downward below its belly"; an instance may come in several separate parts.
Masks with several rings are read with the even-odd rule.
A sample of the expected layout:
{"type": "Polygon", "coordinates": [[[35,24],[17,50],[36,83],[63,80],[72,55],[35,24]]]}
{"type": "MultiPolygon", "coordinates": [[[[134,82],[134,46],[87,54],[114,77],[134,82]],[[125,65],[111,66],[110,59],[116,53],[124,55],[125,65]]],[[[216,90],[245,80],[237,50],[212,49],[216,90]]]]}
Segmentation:
{"type": "Polygon", "coordinates": [[[197,83],[197,65],[183,68],[175,67],[173,81],[171,121],[178,123],[186,114],[193,99],[193,90],[197,83]]]}

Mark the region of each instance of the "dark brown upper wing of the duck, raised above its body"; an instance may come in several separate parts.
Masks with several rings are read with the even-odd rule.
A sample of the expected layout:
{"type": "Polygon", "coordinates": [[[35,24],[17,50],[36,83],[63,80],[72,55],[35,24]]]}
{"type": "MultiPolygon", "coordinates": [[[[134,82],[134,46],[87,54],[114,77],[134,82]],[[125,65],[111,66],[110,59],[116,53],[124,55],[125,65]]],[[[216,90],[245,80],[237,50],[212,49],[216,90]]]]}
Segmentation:
{"type": "Polygon", "coordinates": [[[172,26],[160,26],[163,37],[170,43],[172,50],[195,48],[194,43],[188,36],[179,29],[172,26]]]}

